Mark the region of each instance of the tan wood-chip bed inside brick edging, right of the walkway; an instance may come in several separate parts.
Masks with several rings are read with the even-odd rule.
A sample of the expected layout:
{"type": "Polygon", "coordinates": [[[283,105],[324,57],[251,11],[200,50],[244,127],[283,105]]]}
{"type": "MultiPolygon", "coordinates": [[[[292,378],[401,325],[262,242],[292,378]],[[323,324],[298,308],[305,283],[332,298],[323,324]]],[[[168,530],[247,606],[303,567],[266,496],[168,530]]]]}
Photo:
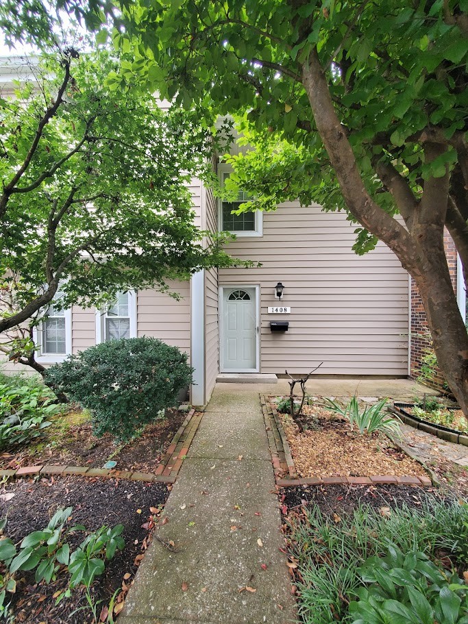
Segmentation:
{"type": "Polygon", "coordinates": [[[347,421],[318,405],[304,406],[303,413],[309,428],[299,432],[291,416],[278,412],[299,477],[426,476],[384,434],[349,432],[347,421]]]}

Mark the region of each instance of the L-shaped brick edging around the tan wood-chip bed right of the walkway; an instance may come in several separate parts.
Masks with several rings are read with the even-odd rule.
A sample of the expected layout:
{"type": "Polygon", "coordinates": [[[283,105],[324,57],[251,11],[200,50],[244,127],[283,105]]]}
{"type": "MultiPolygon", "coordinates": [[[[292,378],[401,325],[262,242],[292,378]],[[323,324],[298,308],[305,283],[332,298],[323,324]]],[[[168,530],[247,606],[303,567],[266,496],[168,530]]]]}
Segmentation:
{"type": "Polygon", "coordinates": [[[393,475],[378,475],[375,477],[308,477],[303,479],[297,475],[291,448],[281,425],[278,412],[271,405],[267,395],[260,395],[260,404],[267,429],[268,442],[275,473],[275,482],[279,487],[317,486],[317,485],[399,485],[430,488],[432,481],[429,477],[395,477],[393,475]],[[284,478],[284,475],[288,475],[284,478]]]}

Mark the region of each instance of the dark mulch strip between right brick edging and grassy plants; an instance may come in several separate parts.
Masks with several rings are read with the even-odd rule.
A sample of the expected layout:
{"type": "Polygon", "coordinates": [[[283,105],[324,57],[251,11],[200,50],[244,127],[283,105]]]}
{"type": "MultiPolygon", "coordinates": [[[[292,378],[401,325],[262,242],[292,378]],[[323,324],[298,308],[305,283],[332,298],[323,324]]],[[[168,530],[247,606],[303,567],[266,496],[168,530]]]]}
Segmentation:
{"type": "MultiPolygon", "coordinates": [[[[281,491],[282,504],[287,510],[301,505],[319,506],[325,514],[342,514],[353,512],[359,505],[367,505],[375,510],[382,507],[419,508],[428,496],[439,496],[434,488],[423,490],[404,486],[311,486],[304,488],[284,488],[281,491]],[[283,499],[284,495],[284,499],[283,499]]],[[[286,511],[286,509],[283,509],[286,511]]]]}

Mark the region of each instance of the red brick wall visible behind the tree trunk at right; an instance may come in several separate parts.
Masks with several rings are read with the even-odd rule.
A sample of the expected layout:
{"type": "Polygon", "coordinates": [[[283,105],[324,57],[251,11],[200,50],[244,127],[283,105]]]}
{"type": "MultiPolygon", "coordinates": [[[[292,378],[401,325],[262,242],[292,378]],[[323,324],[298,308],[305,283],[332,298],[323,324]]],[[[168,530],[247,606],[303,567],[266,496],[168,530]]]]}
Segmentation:
{"type": "MultiPolygon", "coordinates": [[[[444,247],[447,255],[452,285],[456,292],[456,249],[452,237],[444,230],[444,247]]],[[[411,377],[418,377],[421,372],[421,358],[430,347],[430,333],[426,312],[424,312],[421,295],[413,279],[411,279],[411,377]]],[[[434,387],[442,389],[444,379],[441,371],[434,375],[434,387]]]]}

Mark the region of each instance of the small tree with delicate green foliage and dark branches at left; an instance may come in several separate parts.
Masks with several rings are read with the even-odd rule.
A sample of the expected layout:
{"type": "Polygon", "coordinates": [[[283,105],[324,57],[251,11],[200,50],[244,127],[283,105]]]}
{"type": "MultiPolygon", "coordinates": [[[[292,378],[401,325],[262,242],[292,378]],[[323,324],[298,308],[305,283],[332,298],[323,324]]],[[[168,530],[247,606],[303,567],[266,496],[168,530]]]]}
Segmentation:
{"type": "Polygon", "coordinates": [[[193,223],[212,152],[195,112],[108,89],[125,62],[106,51],[27,63],[35,82],[0,97],[0,350],[42,373],[32,330],[59,288],[64,307],[99,306],[232,261],[193,223]]]}

